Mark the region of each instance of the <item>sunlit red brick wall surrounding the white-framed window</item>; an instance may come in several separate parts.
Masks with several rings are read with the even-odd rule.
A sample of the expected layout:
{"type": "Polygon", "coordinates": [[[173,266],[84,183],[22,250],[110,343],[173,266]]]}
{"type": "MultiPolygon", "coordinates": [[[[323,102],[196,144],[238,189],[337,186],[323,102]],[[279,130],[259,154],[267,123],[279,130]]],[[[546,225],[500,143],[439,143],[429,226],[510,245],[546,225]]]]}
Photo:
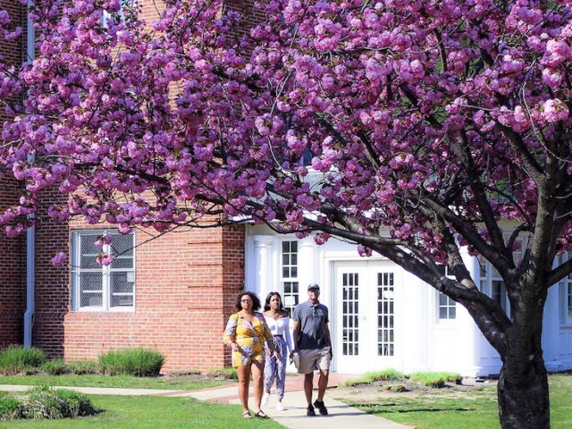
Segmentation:
{"type": "MultiPolygon", "coordinates": [[[[56,195],[45,195],[54,200],[56,195]]],[[[49,260],[69,251],[70,232],[113,228],[79,220],[68,226],[40,216],[37,227],[34,344],[67,360],[95,359],[107,349],[149,347],[164,352],[164,371],[206,371],[228,364],[222,334],[244,282],[244,229],[136,231],[134,312],[71,311],[68,267],[49,260]]]]}

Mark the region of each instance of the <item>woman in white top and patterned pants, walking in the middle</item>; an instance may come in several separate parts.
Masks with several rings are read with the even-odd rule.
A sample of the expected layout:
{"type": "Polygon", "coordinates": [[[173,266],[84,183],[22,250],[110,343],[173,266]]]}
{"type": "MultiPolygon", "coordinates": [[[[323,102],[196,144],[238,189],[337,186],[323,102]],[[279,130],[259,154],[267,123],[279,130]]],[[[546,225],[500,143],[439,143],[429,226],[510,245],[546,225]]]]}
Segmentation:
{"type": "Polygon", "coordinates": [[[290,336],[290,317],[282,305],[280,293],[270,292],[268,294],[263,315],[265,315],[266,324],[273,334],[274,349],[278,351],[281,358],[266,358],[262,405],[268,403],[270,388],[276,380],[276,409],[283,411],[282,399],[284,398],[284,383],[286,381],[286,359],[288,353],[292,351],[292,339],[290,336]]]}

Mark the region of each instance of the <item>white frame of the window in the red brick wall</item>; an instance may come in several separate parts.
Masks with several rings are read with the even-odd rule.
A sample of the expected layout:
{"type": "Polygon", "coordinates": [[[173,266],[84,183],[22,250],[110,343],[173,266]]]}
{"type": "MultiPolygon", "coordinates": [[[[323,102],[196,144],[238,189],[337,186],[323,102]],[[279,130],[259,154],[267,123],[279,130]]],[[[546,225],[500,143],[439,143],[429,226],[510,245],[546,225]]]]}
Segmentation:
{"type": "MultiPolygon", "coordinates": [[[[133,240],[133,267],[132,268],[114,268],[112,262],[111,265],[98,265],[97,268],[81,269],[80,267],[80,238],[86,235],[92,236],[97,240],[98,236],[102,236],[105,233],[117,234],[117,230],[73,230],[71,231],[71,310],[75,312],[114,312],[114,313],[133,313],[135,312],[135,297],[136,297],[136,286],[137,286],[137,261],[135,255],[135,244],[136,237],[135,232],[129,234],[133,240]],[[101,306],[84,306],[80,307],[80,274],[92,272],[92,273],[102,273],[102,305],[101,306]],[[133,273],[133,303],[131,306],[117,306],[111,307],[111,273],[119,272],[132,272],[133,273]]],[[[109,254],[112,251],[113,242],[111,245],[105,244],[102,251],[105,254],[109,254]]]]}

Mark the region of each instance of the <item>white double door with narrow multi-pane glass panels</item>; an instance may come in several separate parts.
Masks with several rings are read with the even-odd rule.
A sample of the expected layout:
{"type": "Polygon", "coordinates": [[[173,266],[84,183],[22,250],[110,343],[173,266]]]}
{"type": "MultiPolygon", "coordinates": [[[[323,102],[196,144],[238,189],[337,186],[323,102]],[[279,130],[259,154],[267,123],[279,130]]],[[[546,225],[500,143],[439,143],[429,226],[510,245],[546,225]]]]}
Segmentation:
{"type": "Polygon", "coordinates": [[[396,267],[382,261],[334,265],[334,365],[340,373],[397,368],[396,267]]]}

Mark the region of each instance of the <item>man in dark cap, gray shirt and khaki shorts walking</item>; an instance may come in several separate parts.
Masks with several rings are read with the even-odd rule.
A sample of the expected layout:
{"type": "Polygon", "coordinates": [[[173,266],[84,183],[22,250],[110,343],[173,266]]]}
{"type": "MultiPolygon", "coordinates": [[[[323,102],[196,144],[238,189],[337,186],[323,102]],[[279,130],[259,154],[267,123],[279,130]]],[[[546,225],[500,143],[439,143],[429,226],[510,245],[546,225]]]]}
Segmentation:
{"type": "Polygon", "coordinates": [[[294,308],[294,350],[299,353],[298,373],[304,374],[304,393],[307,400],[307,416],[315,416],[315,408],[322,416],[328,415],[324,405],[324,392],[328,386],[330,361],[332,360],[332,341],[328,328],[328,307],[320,304],[320,287],[310,283],[307,287],[307,301],[294,308]],[[314,370],[320,370],[318,397],[312,405],[314,370]]]}

